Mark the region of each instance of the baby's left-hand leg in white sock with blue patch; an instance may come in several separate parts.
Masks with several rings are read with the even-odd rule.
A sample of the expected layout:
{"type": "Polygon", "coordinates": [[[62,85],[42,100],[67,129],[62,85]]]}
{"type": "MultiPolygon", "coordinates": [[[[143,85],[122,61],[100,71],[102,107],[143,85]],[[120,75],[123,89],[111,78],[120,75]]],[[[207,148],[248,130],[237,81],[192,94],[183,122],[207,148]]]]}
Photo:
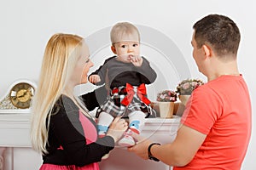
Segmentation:
{"type": "Polygon", "coordinates": [[[106,135],[107,131],[108,131],[108,127],[111,124],[111,122],[113,121],[113,116],[111,116],[110,114],[102,111],[100,116],[98,117],[98,123],[97,123],[97,127],[98,127],[98,133],[100,137],[103,137],[106,135]]]}

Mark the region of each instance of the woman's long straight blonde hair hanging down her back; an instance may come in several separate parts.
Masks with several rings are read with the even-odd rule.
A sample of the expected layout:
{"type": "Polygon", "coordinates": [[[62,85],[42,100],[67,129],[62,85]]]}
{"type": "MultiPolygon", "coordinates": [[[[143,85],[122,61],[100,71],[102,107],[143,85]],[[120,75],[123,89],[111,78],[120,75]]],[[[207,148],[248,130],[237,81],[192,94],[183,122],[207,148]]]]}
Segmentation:
{"type": "Polygon", "coordinates": [[[73,73],[82,45],[82,37],[60,33],[50,37],[45,48],[38,88],[32,100],[31,122],[32,148],[42,154],[48,153],[50,112],[73,73]]]}

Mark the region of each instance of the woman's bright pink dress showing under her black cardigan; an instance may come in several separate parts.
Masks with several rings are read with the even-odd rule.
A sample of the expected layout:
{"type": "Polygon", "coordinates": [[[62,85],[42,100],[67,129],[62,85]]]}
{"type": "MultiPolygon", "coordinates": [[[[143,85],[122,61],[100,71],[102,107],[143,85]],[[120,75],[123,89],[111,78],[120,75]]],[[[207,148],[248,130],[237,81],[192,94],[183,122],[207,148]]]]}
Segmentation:
{"type": "MultiPolygon", "coordinates": [[[[84,135],[86,137],[86,144],[90,144],[95,142],[97,139],[96,127],[90,122],[90,120],[84,116],[84,114],[79,111],[79,120],[82,123],[82,127],[84,129],[84,135]]],[[[91,163],[84,167],[77,167],[75,165],[62,166],[62,165],[54,165],[54,164],[43,164],[40,167],[40,170],[99,170],[99,165],[97,162],[91,163]]]]}

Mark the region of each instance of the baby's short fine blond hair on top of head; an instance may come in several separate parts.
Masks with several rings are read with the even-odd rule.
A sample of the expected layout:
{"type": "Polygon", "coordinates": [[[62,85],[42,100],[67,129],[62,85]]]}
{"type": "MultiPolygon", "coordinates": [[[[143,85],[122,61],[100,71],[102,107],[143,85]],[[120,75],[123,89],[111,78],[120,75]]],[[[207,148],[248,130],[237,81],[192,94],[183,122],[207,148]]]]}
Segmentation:
{"type": "Polygon", "coordinates": [[[131,39],[125,41],[131,40],[140,42],[140,33],[137,27],[129,22],[119,22],[115,24],[110,31],[112,44],[124,41],[123,37],[131,37],[131,39]]]}

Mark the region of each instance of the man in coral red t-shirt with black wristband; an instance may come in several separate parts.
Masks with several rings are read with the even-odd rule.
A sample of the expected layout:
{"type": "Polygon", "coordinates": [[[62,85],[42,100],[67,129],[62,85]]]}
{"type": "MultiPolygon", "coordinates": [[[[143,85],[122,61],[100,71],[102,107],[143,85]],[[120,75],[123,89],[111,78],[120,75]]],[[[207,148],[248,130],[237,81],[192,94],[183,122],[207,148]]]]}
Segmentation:
{"type": "Polygon", "coordinates": [[[251,135],[251,102],[237,68],[240,32],[230,18],[210,14],[193,26],[193,58],[207,77],[196,88],[172,144],[155,144],[134,134],[128,150],[174,169],[241,168],[251,135]]]}

